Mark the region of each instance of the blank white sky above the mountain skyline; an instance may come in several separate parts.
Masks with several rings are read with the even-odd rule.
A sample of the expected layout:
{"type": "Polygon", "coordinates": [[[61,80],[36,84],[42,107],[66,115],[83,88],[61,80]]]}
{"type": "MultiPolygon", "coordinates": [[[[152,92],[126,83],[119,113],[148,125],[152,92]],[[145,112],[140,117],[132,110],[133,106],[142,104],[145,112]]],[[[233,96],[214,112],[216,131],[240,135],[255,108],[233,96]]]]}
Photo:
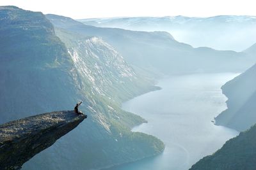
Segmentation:
{"type": "Polygon", "coordinates": [[[255,0],[0,0],[0,6],[54,13],[75,19],[97,17],[212,17],[254,15],[255,0]]]}

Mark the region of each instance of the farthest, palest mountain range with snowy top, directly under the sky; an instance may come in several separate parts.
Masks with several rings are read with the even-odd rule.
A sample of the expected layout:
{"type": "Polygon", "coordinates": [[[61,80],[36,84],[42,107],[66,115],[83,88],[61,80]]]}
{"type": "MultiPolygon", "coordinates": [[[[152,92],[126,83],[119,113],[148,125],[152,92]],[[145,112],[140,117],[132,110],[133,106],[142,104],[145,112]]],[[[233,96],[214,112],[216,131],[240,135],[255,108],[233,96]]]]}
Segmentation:
{"type": "Polygon", "coordinates": [[[78,20],[86,25],[133,31],[166,31],[180,42],[195,47],[240,52],[255,43],[256,17],[220,15],[215,17],[119,17],[78,20]]]}

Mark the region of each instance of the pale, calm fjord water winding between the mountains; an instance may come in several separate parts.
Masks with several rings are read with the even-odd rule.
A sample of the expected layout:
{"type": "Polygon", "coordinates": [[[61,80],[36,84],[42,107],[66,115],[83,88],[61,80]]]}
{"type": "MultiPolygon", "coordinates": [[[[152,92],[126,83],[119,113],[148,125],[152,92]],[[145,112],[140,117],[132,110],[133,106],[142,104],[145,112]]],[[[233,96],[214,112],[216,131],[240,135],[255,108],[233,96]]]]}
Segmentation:
{"type": "MultiPolygon", "coordinates": [[[[152,134],[166,148],[156,157],[111,167],[111,170],[185,170],[216,152],[238,132],[216,126],[214,120],[227,108],[221,85],[238,74],[188,74],[159,81],[162,90],[123,104],[123,109],[148,120],[133,131],[152,134]]],[[[110,170],[109,169],[109,170],[110,170]]]]}

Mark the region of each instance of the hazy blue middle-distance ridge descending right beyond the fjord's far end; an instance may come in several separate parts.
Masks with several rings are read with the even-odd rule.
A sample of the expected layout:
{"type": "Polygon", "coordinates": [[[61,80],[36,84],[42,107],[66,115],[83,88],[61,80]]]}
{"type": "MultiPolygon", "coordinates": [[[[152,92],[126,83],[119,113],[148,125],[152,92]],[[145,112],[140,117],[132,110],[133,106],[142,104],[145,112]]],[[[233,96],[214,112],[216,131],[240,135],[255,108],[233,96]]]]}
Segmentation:
{"type": "MultiPolygon", "coordinates": [[[[244,71],[255,57],[244,52],[193,48],[168,32],[143,32],[84,25],[72,18],[46,15],[54,27],[84,36],[98,36],[113,46],[136,71],[158,74],[244,71]]],[[[140,72],[141,73],[141,72],[140,72]]]]}

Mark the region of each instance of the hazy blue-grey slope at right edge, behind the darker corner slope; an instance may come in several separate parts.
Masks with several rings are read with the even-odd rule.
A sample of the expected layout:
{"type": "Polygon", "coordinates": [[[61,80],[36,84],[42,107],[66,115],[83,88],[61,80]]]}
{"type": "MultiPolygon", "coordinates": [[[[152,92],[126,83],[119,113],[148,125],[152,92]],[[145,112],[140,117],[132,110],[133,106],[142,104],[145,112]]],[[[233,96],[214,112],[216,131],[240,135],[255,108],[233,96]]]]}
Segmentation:
{"type": "Polygon", "coordinates": [[[223,85],[228,109],[216,117],[217,125],[244,131],[256,124],[256,65],[223,85]]]}

